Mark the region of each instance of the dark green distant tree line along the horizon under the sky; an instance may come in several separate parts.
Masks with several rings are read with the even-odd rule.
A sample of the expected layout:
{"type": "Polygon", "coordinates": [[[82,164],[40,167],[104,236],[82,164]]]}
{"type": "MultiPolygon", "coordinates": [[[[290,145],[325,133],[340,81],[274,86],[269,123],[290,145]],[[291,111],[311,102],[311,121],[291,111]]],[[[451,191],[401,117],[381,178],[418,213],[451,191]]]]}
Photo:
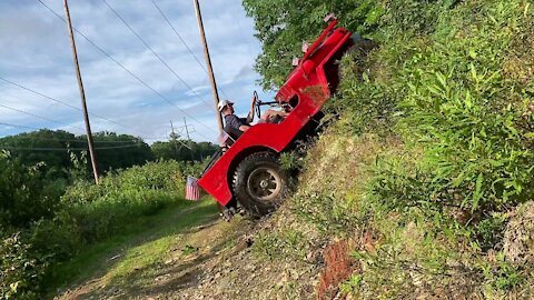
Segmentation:
{"type": "MultiPolygon", "coordinates": [[[[98,168],[105,173],[147,161],[202,161],[218,149],[211,142],[180,140],[177,136],[149,146],[141,138],[108,131],[95,133],[93,141],[98,168]]],[[[1,138],[0,149],[23,166],[42,164],[44,176],[50,179],[88,176],[90,172],[86,136],[42,129],[1,138]]]]}

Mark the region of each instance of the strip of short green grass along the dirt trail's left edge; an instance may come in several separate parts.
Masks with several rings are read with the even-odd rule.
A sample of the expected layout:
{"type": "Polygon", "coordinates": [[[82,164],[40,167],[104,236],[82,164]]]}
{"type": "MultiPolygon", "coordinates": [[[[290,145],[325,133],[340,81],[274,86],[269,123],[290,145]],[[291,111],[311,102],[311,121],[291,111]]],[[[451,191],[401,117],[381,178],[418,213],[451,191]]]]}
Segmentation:
{"type": "Polygon", "coordinates": [[[162,260],[166,251],[188,229],[216,218],[218,213],[212,200],[171,204],[161,213],[125,226],[122,234],[97,242],[72,260],[57,266],[48,286],[66,288],[96,274],[120,280],[135,270],[162,260]]]}

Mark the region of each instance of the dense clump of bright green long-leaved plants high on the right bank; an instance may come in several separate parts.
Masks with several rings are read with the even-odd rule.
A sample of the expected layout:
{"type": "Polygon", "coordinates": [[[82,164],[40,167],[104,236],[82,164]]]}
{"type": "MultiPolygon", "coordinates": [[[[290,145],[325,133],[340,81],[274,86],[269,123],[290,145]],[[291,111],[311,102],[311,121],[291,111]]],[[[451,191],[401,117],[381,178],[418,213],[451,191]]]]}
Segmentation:
{"type": "Polygon", "coordinates": [[[500,209],[533,194],[534,152],[517,126],[524,94],[501,74],[522,1],[486,6],[484,18],[466,24],[471,9],[456,11],[447,28],[438,27],[434,46],[406,62],[403,123],[425,148],[436,193],[461,191],[463,207],[500,209]]]}

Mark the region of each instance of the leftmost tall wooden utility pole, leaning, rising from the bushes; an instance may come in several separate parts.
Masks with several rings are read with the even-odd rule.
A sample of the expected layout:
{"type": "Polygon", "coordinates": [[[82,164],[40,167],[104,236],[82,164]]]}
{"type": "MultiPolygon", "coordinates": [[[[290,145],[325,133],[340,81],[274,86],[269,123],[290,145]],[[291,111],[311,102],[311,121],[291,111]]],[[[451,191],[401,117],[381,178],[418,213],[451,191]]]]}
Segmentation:
{"type": "Polygon", "coordinates": [[[89,154],[91,157],[92,174],[95,176],[95,183],[98,184],[99,173],[98,173],[97,153],[95,152],[95,147],[92,143],[91,124],[89,122],[89,114],[87,113],[86,92],[83,90],[83,82],[81,81],[80,64],[78,63],[78,52],[76,51],[75,33],[72,32],[72,23],[70,21],[69,4],[67,3],[67,0],[63,0],[63,7],[65,7],[65,13],[67,14],[67,27],[70,36],[70,44],[72,46],[72,56],[75,59],[76,77],[78,78],[78,88],[80,89],[81,108],[83,110],[83,121],[86,123],[87,143],[89,146],[89,154]]]}

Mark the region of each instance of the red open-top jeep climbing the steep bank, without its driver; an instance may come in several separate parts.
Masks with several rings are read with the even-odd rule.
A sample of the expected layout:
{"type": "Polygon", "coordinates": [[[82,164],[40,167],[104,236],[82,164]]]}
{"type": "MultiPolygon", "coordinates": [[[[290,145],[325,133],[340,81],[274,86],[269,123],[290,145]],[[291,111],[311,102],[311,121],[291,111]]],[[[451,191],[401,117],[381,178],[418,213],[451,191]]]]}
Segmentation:
{"type": "MultiPolygon", "coordinates": [[[[337,20],[330,21],[309,48],[303,46],[303,59],[294,60],[296,68],[275,101],[289,106],[289,114],[278,123],[253,126],[226,152],[214,156],[204,171],[198,183],[220,204],[239,203],[248,213],[263,216],[287,192],[289,178],[278,162],[279,153],[293,149],[296,140],[318,126],[320,109],[339,82],[342,56],[369,42],[336,24],[337,20]]],[[[261,104],[257,102],[258,117],[261,104]]]]}

